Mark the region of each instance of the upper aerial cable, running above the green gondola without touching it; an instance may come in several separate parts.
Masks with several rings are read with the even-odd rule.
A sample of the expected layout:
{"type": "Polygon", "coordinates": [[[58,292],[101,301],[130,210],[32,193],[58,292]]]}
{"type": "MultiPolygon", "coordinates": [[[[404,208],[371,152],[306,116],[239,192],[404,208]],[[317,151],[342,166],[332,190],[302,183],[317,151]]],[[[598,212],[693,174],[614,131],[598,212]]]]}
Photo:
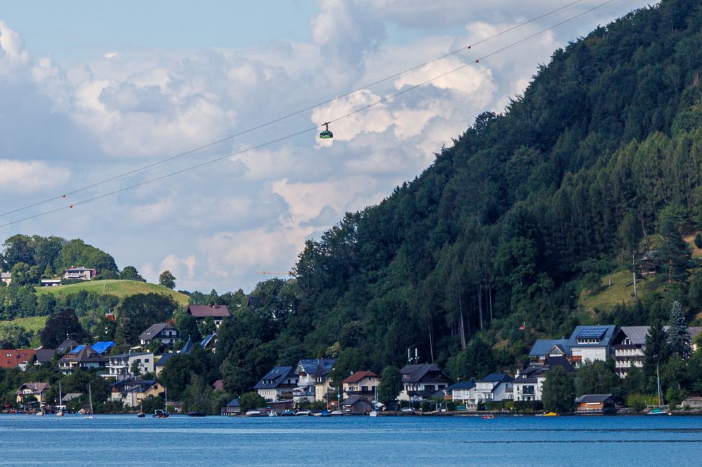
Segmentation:
{"type": "Polygon", "coordinates": [[[317,104],[313,104],[313,105],[311,105],[311,106],[309,106],[309,107],[305,107],[304,109],[300,109],[300,110],[295,111],[295,112],[293,112],[293,113],[291,113],[291,114],[287,114],[287,115],[281,116],[281,117],[279,117],[279,118],[277,118],[277,119],[274,119],[274,120],[271,120],[271,121],[267,121],[266,123],[261,123],[261,124],[258,125],[258,126],[254,126],[254,127],[249,128],[249,129],[247,129],[247,130],[243,130],[243,131],[241,131],[241,132],[239,132],[239,133],[235,133],[234,135],[230,135],[230,136],[227,136],[227,137],[223,137],[223,138],[221,138],[220,140],[216,140],[216,141],[210,142],[210,143],[208,143],[208,144],[204,144],[204,145],[199,146],[199,147],[196,147],[196,148],[194,148],[194,149],[190,149],[190,150],[188,150],[188,151],[181,152],[180,154],[176,154],[176,155],[174,155],[174,156],[161,159],[160,161],[156,161],[156,162],[154,162],[154,163],[150,163],[150,164],[147,164],[147,165],[143,165],[143,166],[141,166],[141,167],[139,167],[139,168],[135,168],[135,169],[133,169],[133,170],[129,170],[128,172],[124,172],[124,173],[121,173],[121,174],[119,174],[119,175],[114,175],[113,177],[108,177],[108,178],[106,178],[105,180],[102,180],[102,181],[100,181],[100,182],[95,182],[95,183],[93,183],[93,184],[88,184],[88,185],[86,185],[85,187],[80,187],[80,188],[74,189],[74,190],[72,190],[72,191],[66,191],[66,192],[63,193],[63,194],[60,194],[60,195],[57,195],[57,196],[52,196],[51,198],[46,198],[46,199],[44,199],[43,201],[37,201],[36,203],[32,203],[32,204],[28,204],[28,205],[22,206],[22,208],[17,208],[17,209],[13,209],[13,210],[10,210],[10,211],[7,211],[7,212],[3,212],[3,213],[0,214],[0,217],[4,217],[4,216],[10,215],[10,214],[14,214],[15,212],[20,212],[20,211],[23,211],[23,210],[27,210],[27,209],[29,209],[29,208],[36,208],[37,206],[40,206],[40,205],[43,205],[43,204],[46,204],[46,203],[50,203],[51,201],[60,200],[60,199],[62,199],[62,198],[66,198],[67,196],[74,195],[74,194],[78,194],[78,193],[80,193],[81,191],[86,191],[86,190],[91,189],[91,188],[100,187],[100,186],[103,185],[103,184],[107,184],[107,183],[110,183],[110,182],[114,182],[115,180],[119,180],[119,179],[121,179],[121,178],[128,177],[129,175],[134,175],[135,173],[138,173],[138,172],[143,172],[144,170],[147,170],[147,169],[156,167],[157,165],[161,165],[161,164],[164,164],[164,163],[167,163],[167,162],[174,161],[174,160],[176,160],[176,159],[178,159],[178,158],[187,156],[187,155],[189,155],[189,154],[193,154],[193,153],[195,153],[195,152],[197,152],[197,151],[201,151],[201,150],[203,150],[203,149],[207,149],[207,148],[209,148],[209,147],[216,146],[217,144],[220,144],[220,143],[223,143],[223,142],[226,142],[226,141],[229,141],[229,140],[233,140],[234,138],[237,138],[237,137],[246,135],[246,134],[251,133],[251,132],[256,131],[256,130],[260,130],[261,128],[265,128],[265,127],[267,127],[267,126],[271,126],[271,125],[273,125],[274,123],[279,123],[280,121],[284,121],[284,120],[286,120],[286,119],[290,119],[290,118],[293,117],[293,116],[298,116],[298,115],[300,115],[300,114],[303,114],[303,113],[306,112],[306,111],[310,111],[310,110],[315,109],[315,108],[317,108],[317,107],[321,107],[322,105],[329,104],[329,103],[331,103],[331,102],[333,102],[333,101],[335,101],[335,100],[341,99],[341,98],[343,98],[343,97],[347,97],[347,96],[349,96],[349,95],[352,95],[353,93],[357,93],[357,92],[359,92],[360,90],[364,90],[364,89],[367,89],[367,88],[372,88],[373,86],[377,86],[378,84],[384,83],[385,81],[390,81],[391,79],[395,79],[395,78],[397,78],[398,76],[402,76],[403,74],[406,74],[406,73],[409,73],[409,72],[414,72],[414,71],[416,71],[416,70],[418,70],[418,69],[420,69],[420,68],[422,68],[422,67],[425,67],[425,66],[427,66],[427,65],[430,65],[430,64],[432,64],[432,63],[434,63],[434,62],[437,62],[437,61],[439,61],[439,60],[444,60],[444,59],[447,58],[447,57],[451,57],[452,55],[456,55],[457,53],[461,53],[461,52],[464,52],[465,50],[469,50],[469,49],[471,49],[472,47],[478,46],[479,44],[485,43],[485,42],[487,42],[487,41],[491,41],[492,39],[496,39],[497,37],[503,36],[504,34],[508,34],[509,32],[515,31],[515,30],[517,30],[517,29],[519,29],[519,28],[521,28],[521,27],[524,27],[524,26],[526,26],[526,25],[529,25],[529,24],[531,24],[532,22],[536,22],[536,21],[541,20],[541,19],[543,19],[543,18],[546,18],[546,17],[548,17],[548,16],[550,16],[550,15],[553,15],[553,14],[555,14],[555,13],[558,13],[559,11],[562,11],[562,10],[564,10],[564,9],[566,9],[566,8],[569,8],[569,7],[571,7],[571,6],[574,6],[575,4],[579,4],[579,3],[581,3],[582,1],[584,1],[584,0],[574,0],[574,1],[571,1],[571,3],[566,4],[566,5],[564,5],[564,6],[561,6],[561,7],[559,7],[559,8],[556,8],[555,10],[549,11],[549,12],[547,12],[547,13],[543,13],[543,15],[539,15],[539,16],[537,16],[536,18],[531,18],[531,20],[527,20],[527,21],[521,22],[521,23],[519,23],[518,25],[509,27],[508,29],[504,29],[504,30],[501,31],[501,32],[498,32],[498,33],[496,33],[496,34],[493,34],[493,35],[491,35],[491,36],[488,36],[488,37],[486,37],[486,38],[484,38],[484,39],[481,39],[481,40],[479,40],[479,41],[477,41],[477,42],[475,42],[475,43],[471,43],[471,44],[468,45],[468,46],[458,48],[458,49],[456,49],[456,50],[453,50],[453,52],[446,53],[445,55],[441,55],[440,57],[437,57],[437,58],[435,58],[435,59],[433,59],[433,60],[429,60],[428,62],[424,62],[424,63],[422,63],[421,65],[416,65],[416,67],[412,67],[412,68],[409,68],[409,69],[405,69],[405,70],[402,71],[402,72],[397,72],[397,73],[392,74],[392,75],[390,75],[390,76],[386,76],[386,77],[383,78],[383,79],[379,79],[378,81],[374,81],[373,83],[369,83],[369,84],[367,84],[366,86],[362,86],[361,88],[356,88],[355,90],[351,90],[351,91],[349,91],[349,92],[347,92],[347,93],[337,95],[336,97],[332,97],[331,99],[325,100],[325,101],[323,101],[323,102],[317,102],[317,104]]]}

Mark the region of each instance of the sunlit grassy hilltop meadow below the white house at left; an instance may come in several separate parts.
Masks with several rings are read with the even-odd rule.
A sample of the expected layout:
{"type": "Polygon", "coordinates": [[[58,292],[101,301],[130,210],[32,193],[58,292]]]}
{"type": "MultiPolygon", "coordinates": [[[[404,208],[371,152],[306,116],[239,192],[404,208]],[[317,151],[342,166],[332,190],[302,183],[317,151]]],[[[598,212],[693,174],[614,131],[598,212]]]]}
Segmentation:
{"type": "Polygon", "coordinates": [[[90,280],[80,284],[58,285],[57,287],[36,287],[37,295],[71,295],[81,290],[96,292],[103,295],[114,295],[119,298],[135,294],[157,293],[170,295],[180,306],[187,306],[187,295],[161,285],[139,282],[138,280],[90,280]]]}

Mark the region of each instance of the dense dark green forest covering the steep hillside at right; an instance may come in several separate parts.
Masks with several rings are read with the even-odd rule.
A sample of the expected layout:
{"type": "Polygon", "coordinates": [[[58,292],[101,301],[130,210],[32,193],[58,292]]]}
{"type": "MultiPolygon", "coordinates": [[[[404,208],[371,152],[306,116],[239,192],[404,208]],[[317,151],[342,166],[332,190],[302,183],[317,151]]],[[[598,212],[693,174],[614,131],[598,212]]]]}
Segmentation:
{"type": "MultiPolygon", "coordinates": [[[[218,377],[243,393],[272,365],[317,356],[337,358],[338,374],[380,372],[408,348],[454,379],[480,377],[523,364],[538,337],[660,323],[676,301],[694,323],[702,271],[683,238],[702,246],[701,99],[699,2],[663,0],[556,50],[503,114],[477,116],[415,180],[307,241],[291,280],[190,293],[233,317],[216,354],[173,359],[173,396],[218,377]],[[654,287],[632,304],[578,303],[644,261],[654,287]]],[[[80,262],[59,240],[58,255],[21,258],[6,243],[2,263],[36,274],[80,262]]]]}

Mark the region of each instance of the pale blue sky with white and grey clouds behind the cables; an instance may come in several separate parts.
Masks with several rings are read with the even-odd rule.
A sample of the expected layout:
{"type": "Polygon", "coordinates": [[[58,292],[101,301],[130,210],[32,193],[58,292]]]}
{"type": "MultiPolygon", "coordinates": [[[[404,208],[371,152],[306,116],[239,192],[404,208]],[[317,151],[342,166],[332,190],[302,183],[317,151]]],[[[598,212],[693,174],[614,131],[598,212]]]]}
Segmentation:
{"type": "Polygon", "coordinates": [[[0,1],[0,224],[64,208],[0,228],[0,238],[79,237],[150,280],[171,270],[179,289],[251,290],[268,277],[258,271],[289,271],[305,239],[418,175],[481,111],[502,111],[555,48],[646,2],[617,0],[341,119],[332,141],[305,133],[247,149],[472,63],[602,0],[366,87],[572,2],[0,1]],[[1,215],[355,89],[270,128],[1,215]]]}

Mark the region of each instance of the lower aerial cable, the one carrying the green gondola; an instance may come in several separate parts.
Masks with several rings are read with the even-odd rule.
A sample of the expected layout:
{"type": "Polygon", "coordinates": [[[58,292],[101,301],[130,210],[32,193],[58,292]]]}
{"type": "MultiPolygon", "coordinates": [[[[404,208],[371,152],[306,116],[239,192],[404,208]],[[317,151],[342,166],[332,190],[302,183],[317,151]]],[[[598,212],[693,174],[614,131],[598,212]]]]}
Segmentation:
{"type": "MultiPolygon", "coordinates": [[[[340,121],[340,120],[343,120],[343,119],[347,119],[348,117],[350,117],[350,116],[352,116],[352,115],[359,114],[360,112],[366,111],[367,109],[370,109],[371,107],[375,107],[375,106],[378,105],[378,104],[382,104],[383,102],[387,102],[388,100],[391,100],[391,99],[393,99],[393,98],[395,98],[395,97],[397,97],[397,96],[399,96],[399,95],[402,95],[402,94],[404,94],[404,93],[408,93],[409,91],[414,90],[414,89],[416,89],[416,88],[418,88],[418,87],[420,87],[420,86],[424,86],[425,84],[428,84],[428,83],[430,83],[430,82],[432,82],[432,81],[435,81],[435,80],[437,80],[437,79],[443,78],[443,77],[446,76],[446,75],[449,75],[449,74],[451,74],[451,73],[457,72],[458,70],[464,69],[465,67],[469,67],[469,66],[471,66],[471,65],[475,65],[475,64],[479,63],[480,60],[484,60],[484,59],[486,59],[486,58],[488,58],[488,57],[491,57],[491,56],[496,55],[496,54],[498,54],[498,53],[501,53],[501,52],[503,52],[503,51],[505,51],[505,50],[508,50],[508,49],[510,49],[510,48],[513,48],[513,47],[515,47],[515,46],[517,46],[517,45],[519,45],[519,44],[521,44],[521,43],[524,43],[524,42],[526,42],[526,41],[529,41],[530,39],[534,39],[534,37],[536,37],[536,36],[540,36],[541,34],[544,34],[545,32],[548,32],[548,31],[550,31],[550,30],[552,30],[552,29],[555,29],[555,28],[557,28],[557,27],[560,27],[560,26],[566,24],[567,22],[571,22],[571,21],[573,21],[573,20],[576,20],[577,18],[580,18],[580,17],[583,16],[583,15],[586,15],[586,14],[588,14],[588,13],[592,13],[592,11],[595,11],[595,10],[597,10],[598,8],[602,8],[602,7],[604,7],[604,6],[607,6],[607,5],[609,5],[609,4],[612,4],[612,3],[614,3],[615,1],[616,1],[616,0],[607,0],[607,1],[605,1],[604,3],[602,3],[602,4],[600,4],[600,5],[597,5],[597,6],[594,6],[594,7],[590,8],[590,9],[588,9],[588,10],[586,10],[586,11],[583,11],[583,12],[581,12],[581,13],[578,13],[578,15],[575,15],[575,16],[573,16],[573,17],[571,17],[571,18],[568,18],[567,20],[563,20],[563,21],[561,21],[561,22],[558,22],[558,23],[555,24],[555,25],[552,25],[552,26],[550,26],[550,27],[547,27],[547,28],[545,28],[545,29],[542,29],[542,30],[539,31],[539,32],[536,32],[536,33],[534,33],[534,34],[531,34],[531,35],[525,37],[524,39],[520,39],[519,41],[516,41],[516,42],[514,42],[514,43],[511,43],[511,44],[509,44],[508,46],[504,46],[504,47],[502,47],[502,48],[499,48],[499,49],[497,49],[497,50],[492,51],[491,53],[488,53],[488,54],[486,54],[486,55],[483,55],[482,57],[479,57],[479,58],[477,58],[476,60],[474,60],[474,61],[472,61],[472,62],[465,63],[465,64],[461,65],[460,67],[456,67],[456,68],[453,68],[453,69],[449,70],[448,72],[444,72],[444,73],[439,74],[439,75],[437,75],[437,76],[433,76],[432,78],[427,79],[427,80],[425,80],[425,81],[422,81],[421,83],[417,83],[417,84],[415,84],[415,85],[413,85],[413,86],[410,86],[409,88],[405,88],[405,89],[403,89],[403,90],[399,90],[399,91],[398,91],[397,93],[395,93],[395,94],[382,97],[382,98],[380,98],[379,100],[377,100],[376,102],[373,102],[372,104],[368,104],[368,105],[366,105],[366,106],[364,106],[364,107],[360,107],[359,109],[356,109],[356,110],[354,110],[354,111],[350,111],[349,113],[347,113],[347,114],[345,114],[345,115],[343,115],[343,116],[338,116],[338,117],[336,117],[335,119],[332,119],[332,120],[330,120],[330,121],[328,121],[328,122],[326,122],[326,123],[322,123],[322,126],[328,126],[330,123],[333,123],[333,122],[335,122],[335,121],[340,121]]],[[[86,203],[91,203],[92,201],[96,201],[96,200],[99,200],[99,199],[101,199],[101,198],[106,198],[107,196],[112,196],[112,195],[114,195],[114,194],[119,194],[119,193],[121,193],[121,192],[123,192],[123,191],[128,191],[128,190],[135,189],[135,188],[138,188],[138,187],[143,187],[143,186],[145,186],[145,185],[147,185],[147,184],[152,184],[152,183],[154,183],[154,182],[159,182],[160,180],[164,180],[164,179],[166,179],[166,178],[173,177],[173,176],[175,176],[175,175],[180,175],[180,174],[185,173],[185,172],[190,172],[190,170],[195,170],[195,169],[197,169],[197,168],[201,168],[201,167],[204,167],[204,166],[206,166],[206,165],[211,165],[211,164],[213,164],[213,163],[217,163],[217,162],[220,162],[220,161],[224,161],[224,160],[227,159],[227,158],[231,158],[231,157],[234,157],[234,156],[239,156],[239,155],[245,154],[245,153],[247,153],[247,152],[249,152],[249,151],[253,151],[253,150],[255,150],[255,149],[260,149],[260,148],[262,148],[262,147],[269,146],[270,144],[274,144],[274,143],[281,142],[281,141],[284,141],[284,140],[289,140],[289,139],[292,138],[292,137],[296,137],[296,136],[299,136],[299,135],[303,135],[304,133],[309,133],[309,132],[311,132],[312,130],[317,130],[317,128],[319,128],[319,126],[315,125],[315,126],[313,126],[313,127],[306,128],[306,129],[304,129],[304,130],[297,131],[296,133],[291,133],[291,134],[289,134],[289,135],[285,135],[285,136],[279,137],[279,138],[277,138],[277,139],[275,139],[275,140],[271,140],[271,141],[268,141],[268,142],[264,142],[264,143],[258,144],[257,146],[250,147],[249,149],[243,149],[243,150],[241,150],[241,151],[237,151],[237,152],[234,152],[234,153],[232,153],[232,154],[227,154],[226,156],[220,156],[220,157],[218,157],[218,158],[214,158],[214,159],[211,159],[211,160],[209,160],[209,161],[206,161],[206,162],[203,162],[203,163],[199,163],[199,164],[197,164],[197,165],[192,165],[192,166],[190,166],[190,167],[183,168],[183,169],[181,169],[181,170],[177,170],[176,172],[170,172],[170,173],[168,173],[168,174],[166,174],[166,175],[161,175],[161,176],[159,176],[159,177],[154,177],[154,178],[152,178],[152,179],[145,180],[144,182],[139,182],[139,183],[137,183],[137,184],[133,184],[133,185],[130,185],[130,186],[128,186],[128,187],[123,187],[123,188],[121,188],[121,189],[117,189],[117,190],[114,190],[114,191],[110,191],[110,192],[105,193],[105,194],[101,194],[101,195],[98,195],[98,196],[93,196],[92,198],[87,198],[87,199],[84,199],[84,200],[82,200],[82,201],[78,201],[77,203],[73,203],[73,204],[71,204],[71,205],[65,205],[65,206],[62,206],[62,207],[60,207],[60,208],[55,208],[55,209],[52,209],[52,210],[48,210],[48,211],[46,211],[46,212],[41,212],[41,213],[39,213],[39,214],[37,214],[37,215],[32,215],[32,216],[29,216],[29,217],[24,217],[24,218],[22,218],[22,219],[18,219],[18,220],[12,221],[12,222],[7,222],[6,224],[0,224],[0,229],[3,228],[3,227],[6,227],[6,226],[11,226],[11,225],[13,225],[13,224],[19,224],[20,222],[24,222],[24,221],[29,220],[29,219],[36,219],[37,217],[43,217],[43,216],[45,216],[45,215],[49,215],[49,214],[52,214],[52,213],[54,213],[54,212],[58,212],[58,211],[61,211],[61,210],[72,209],[72,208],[74,208],[74,206],[82,205],[82,204],[86,204],[86,203]]]]}

